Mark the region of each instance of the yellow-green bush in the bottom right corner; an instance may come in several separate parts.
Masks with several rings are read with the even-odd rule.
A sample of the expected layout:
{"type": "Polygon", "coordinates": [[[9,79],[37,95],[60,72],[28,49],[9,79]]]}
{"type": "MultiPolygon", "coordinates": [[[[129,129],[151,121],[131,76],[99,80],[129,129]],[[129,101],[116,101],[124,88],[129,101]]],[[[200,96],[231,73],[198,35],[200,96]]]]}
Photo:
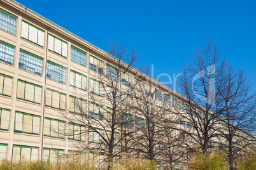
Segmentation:
{"type": "Polygon", "coordinates": [[[238,169],[254,170],[256,169],[256,148],[246,154],[242,159],[238,159],[238,169]]]}

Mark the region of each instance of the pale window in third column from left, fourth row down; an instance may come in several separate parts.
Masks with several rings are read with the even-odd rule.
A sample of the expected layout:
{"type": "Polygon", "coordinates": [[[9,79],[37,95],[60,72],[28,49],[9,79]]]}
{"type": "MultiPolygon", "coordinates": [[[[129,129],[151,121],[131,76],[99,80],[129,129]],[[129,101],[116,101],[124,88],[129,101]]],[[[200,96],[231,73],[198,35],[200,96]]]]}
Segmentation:
{"type": "Polygon", "coordinates": [[[64,121],[45,118],[44,136],[64,138],[64,121]]]}

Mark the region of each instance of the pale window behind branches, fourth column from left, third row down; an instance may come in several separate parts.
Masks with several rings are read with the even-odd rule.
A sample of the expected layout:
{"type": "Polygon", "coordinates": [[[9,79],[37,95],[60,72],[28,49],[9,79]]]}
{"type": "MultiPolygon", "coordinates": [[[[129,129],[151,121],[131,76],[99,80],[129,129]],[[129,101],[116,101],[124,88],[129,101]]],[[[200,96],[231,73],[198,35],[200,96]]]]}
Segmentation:
{"type": "Polygon", "coordinates": [[[85,114],[87,112],[86,105],[86,100],[76,98],[74,96],[69,96],[69,112],[85,114]]]}

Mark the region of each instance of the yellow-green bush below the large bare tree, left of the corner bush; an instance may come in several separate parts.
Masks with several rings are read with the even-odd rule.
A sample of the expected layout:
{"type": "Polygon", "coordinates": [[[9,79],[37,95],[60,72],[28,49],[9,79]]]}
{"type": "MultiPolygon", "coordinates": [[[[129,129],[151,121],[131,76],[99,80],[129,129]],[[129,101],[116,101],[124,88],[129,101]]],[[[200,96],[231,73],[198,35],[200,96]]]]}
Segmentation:
{"type": "Polygon", "coordinates": [[[203,153],[202,150],[198,150],[192,156],[192,169],[197,169],[197,170],[229,169],[228,162],[227,162],[227,152],[213,151],[207,154],[207,153],[203,153]]]}

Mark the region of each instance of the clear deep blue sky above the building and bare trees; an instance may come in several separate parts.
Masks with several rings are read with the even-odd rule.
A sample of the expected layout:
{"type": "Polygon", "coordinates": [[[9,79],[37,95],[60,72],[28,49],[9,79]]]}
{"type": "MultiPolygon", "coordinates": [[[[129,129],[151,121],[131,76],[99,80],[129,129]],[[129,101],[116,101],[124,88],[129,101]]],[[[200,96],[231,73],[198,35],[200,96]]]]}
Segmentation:
{"type": "Polygon", "coordinates": [[[178,74],[210,37],[256,90],[256,1],[18,2],[103,50],[110,39],[136,46],[155,77],[178,74]]]}

